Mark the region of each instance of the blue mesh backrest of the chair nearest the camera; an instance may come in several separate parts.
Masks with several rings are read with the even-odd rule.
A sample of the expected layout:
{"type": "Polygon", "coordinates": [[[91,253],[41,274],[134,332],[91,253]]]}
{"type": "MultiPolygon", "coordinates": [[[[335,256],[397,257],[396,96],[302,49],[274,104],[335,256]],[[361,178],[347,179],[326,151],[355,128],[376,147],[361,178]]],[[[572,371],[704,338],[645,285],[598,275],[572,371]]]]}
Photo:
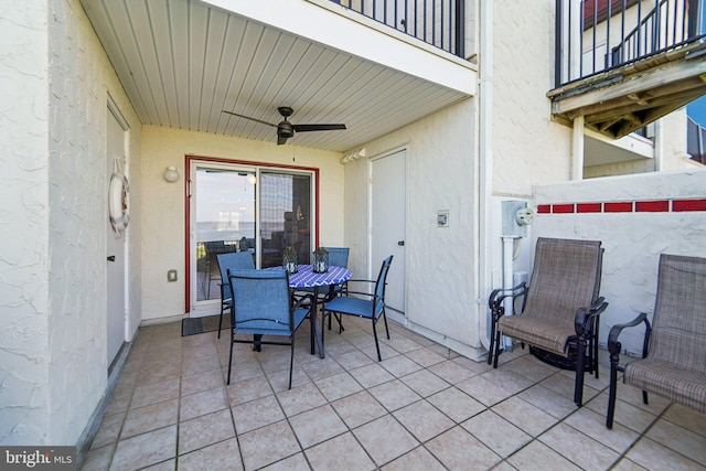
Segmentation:
{"type": "Polygon", "coordinates": [[[289,275],[284,269],[228,270],[235,330],[291,332],[289,275]]]}

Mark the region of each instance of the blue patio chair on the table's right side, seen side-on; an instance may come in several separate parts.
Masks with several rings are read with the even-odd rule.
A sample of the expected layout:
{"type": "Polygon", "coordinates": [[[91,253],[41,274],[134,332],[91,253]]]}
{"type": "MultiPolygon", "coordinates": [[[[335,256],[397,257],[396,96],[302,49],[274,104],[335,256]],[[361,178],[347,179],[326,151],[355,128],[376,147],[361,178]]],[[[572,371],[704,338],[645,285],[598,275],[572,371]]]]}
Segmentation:
{"type": "MultiPolygon", "coordinates": [[[[385,282],[387,279],[387,272],[389,266],[393,263],[393,256],[383,260],[383,266],[377,275],[377,280],[349,280],[349,283],[366,282],[375,283],[375,289],[372,293],[363,291],[347,290],[347,296],[338,296],[331,301],[325,302],[321,309],[321,339],[323,340],[323,322],[327,315],[345,314],[356,315],[359,318],[370,319],[373,322],[373,335],[375,336],[375,349],[377,349],[377,361],[382,362],[383,358],[379,354],[379,343],[377,341],[376,324],[379,318],[385,321],[385,333],[389,339],[389,330],[387,328],[387,315],[385,315],[385,282]]],[[[339,331],[340,332],[340,331],[339,331]]]]}

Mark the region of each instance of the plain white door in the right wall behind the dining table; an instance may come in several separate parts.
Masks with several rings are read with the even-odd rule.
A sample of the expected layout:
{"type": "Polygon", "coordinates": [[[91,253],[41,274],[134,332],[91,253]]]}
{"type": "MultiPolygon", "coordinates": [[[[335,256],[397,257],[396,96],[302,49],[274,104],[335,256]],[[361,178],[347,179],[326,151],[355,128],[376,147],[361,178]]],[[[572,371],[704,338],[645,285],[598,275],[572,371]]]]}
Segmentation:
{"type": "Polygon", "coordinates": [[[371,164],[371,275],[393,255],[387,274],[387,315],[405,323],[405,237],[407,226],[407,154],[399,150],[371,164]]]}

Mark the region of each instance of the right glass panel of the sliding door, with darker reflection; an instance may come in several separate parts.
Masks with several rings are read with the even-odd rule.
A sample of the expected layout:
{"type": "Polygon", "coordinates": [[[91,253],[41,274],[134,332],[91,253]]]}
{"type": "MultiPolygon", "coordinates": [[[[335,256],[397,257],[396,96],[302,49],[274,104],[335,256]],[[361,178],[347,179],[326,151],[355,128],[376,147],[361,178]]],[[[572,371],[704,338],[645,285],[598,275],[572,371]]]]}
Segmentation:
{"type": "Polygon", "coordinates": [[[261,267],[281,265],[286,247],[297,250],[297,261],[309,264],[312,251],[311,175],[261,171],[261,267]]]}

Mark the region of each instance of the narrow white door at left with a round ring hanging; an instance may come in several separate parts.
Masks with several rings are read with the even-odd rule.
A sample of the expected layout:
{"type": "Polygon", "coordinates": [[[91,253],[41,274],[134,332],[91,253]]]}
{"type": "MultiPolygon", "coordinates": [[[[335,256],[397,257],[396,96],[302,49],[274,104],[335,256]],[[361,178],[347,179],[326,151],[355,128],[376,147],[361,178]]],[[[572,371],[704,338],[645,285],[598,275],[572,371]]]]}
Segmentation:
{"type": "MultiPolygon", "coordinates": [[[[107,118],[107,142],[106,142],[106,182],[110,182],[110,176],[115,171],[116,158],[124,162],[125,156],[125,129],[118,122],[113,111],[108,109],[107,118]]],[[[106,189],[107,193],[107,189],[106,189]]],[[[107,213],[106,208],[106,213],[107,213]]],[[[106,215],[107,244],[106,244],[106,269],[107,269],[107,312],[108,312],[108,365],[120,351],[125,342],[126,331],[126,309],[125,309],[125,232],[118,235],[110,225],[106,215]]]]}

